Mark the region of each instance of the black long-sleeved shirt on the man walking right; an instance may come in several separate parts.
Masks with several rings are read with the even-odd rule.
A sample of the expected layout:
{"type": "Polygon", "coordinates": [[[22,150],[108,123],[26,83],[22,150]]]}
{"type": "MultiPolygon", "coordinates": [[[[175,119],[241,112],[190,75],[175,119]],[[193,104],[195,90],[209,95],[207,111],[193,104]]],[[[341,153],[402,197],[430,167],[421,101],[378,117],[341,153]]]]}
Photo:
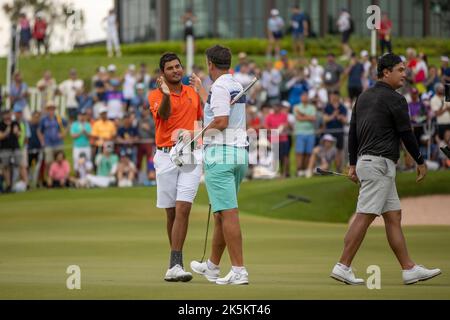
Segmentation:
{"type": "Polygon", "coordinates": [[[351,165],[361,155],[382,156],[397,162],[400,133],[411,131],[408,103],[390,85],[378,81],[358,97],[350,126],[357,142],[357,148],[349,150],[351,165]]]}

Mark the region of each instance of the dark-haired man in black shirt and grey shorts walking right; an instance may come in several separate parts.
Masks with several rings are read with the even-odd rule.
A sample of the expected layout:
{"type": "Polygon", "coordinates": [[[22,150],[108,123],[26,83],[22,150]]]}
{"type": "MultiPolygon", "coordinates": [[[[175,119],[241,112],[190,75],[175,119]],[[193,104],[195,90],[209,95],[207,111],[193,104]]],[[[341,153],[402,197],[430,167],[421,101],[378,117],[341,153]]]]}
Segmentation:
{"type": "Polygon", "coordinates": [[[347,284],[364,284],[350,267],[367,228],[382,216],[386,235],[403,270],[404,284],[431,279],[439,269],[416,265],[408,255],[401,228],[401,208],[395,186],[400,140],[417,163],[417,182],[427,173],[408,114],[406,99],[395,90],[405,82],[405,65],[388,53],[378,60],[379,81],[362,93],[353,109],[349,133],[349,178],[360,182],[356,217],[344,240],[344,251],[331,277],[347,284]]]}

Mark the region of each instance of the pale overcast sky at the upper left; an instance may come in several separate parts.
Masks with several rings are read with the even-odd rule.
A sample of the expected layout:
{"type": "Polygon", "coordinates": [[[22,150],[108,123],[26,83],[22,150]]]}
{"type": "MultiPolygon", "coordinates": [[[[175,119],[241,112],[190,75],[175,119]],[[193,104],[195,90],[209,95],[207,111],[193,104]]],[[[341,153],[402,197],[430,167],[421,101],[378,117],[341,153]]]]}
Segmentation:
{"type": "MultiPolygon", "coordinates": [[[[13,0],[0,0],[0,56],[5,56],[9,48],[9,32],[10,24],[3,13],[3,5],[12,3],[13,0]]],[[[85,24],[84,34],[86,42],[98,41],[106,39],[105,30],[102,26],[102,19],[108,14],[108,10],[114,5],[113,0],[54,0],[58,2],[72,3],[75,8],[84,10],[85,24]]],[[[64,33],[60,30],[61,34],[64,33]]],[[[58,44],[54,49],[64,49],[64,44],[58,44]]]]}

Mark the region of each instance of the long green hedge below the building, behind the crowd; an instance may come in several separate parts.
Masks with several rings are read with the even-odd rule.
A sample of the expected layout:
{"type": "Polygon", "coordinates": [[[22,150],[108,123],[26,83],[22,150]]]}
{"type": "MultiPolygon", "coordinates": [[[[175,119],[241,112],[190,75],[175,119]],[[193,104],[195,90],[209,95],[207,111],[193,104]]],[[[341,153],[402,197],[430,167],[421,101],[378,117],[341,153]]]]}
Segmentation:
{"type": "MultiPolygon", "coordinates": [[[[220,43],[228,46],[233,53],[240,51],[247,52],[250,55],[264,55],[267,40],[265,39],[201,39],[195,43],[196,53],[203,53],[208,47],[220,43]]],[[[352,37],[350,42],[352,48],[359,52],[363,49],[369,50],[370,39],[368,37],[352,37]]],[[[415,48],[418,52],[424,52],[429,56],[441,56],[450,54],[450,41],[442,38],[394,38],[394,51],[399,54],[405,54],[408,47],[415,48]]],[[[125,44],[122,46],[122,51],[126,55],[152,55],[161,54],[166,51],[173,51],[176,53],[183,52],[182,41],[162,41],[162,42],[146,42],[125,44]]],[[[285,37],[282,42],[282,48],[290,51],[291,39],[285,37]]],[[[318,39],[306,40],[306,54],[308,56],[324,56],[328,52],[340,54],[341,46],[338,36],[326,36],[318,39]]],[[[76,49],[69,55],[106,55],[105,46],[95,46],[88,48],[76,49]]]]}

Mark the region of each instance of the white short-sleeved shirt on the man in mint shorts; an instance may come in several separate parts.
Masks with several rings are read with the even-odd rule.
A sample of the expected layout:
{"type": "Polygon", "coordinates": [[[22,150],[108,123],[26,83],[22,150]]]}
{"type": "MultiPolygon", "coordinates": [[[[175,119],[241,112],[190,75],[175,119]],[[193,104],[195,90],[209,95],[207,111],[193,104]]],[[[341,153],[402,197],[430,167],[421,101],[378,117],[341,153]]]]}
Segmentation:
{"type": "Polygon", "coordinates": [[[230,145],[246,147],[246,96],[242,96],[233,106],[231,100],[243,90],[242,85],[231,74],[224,74],[211,86],[208,100],[204,107],[204,125],[209,125],[215,117],[228,116],[228,127],[203,139],[205,145],[230,145]]]}

